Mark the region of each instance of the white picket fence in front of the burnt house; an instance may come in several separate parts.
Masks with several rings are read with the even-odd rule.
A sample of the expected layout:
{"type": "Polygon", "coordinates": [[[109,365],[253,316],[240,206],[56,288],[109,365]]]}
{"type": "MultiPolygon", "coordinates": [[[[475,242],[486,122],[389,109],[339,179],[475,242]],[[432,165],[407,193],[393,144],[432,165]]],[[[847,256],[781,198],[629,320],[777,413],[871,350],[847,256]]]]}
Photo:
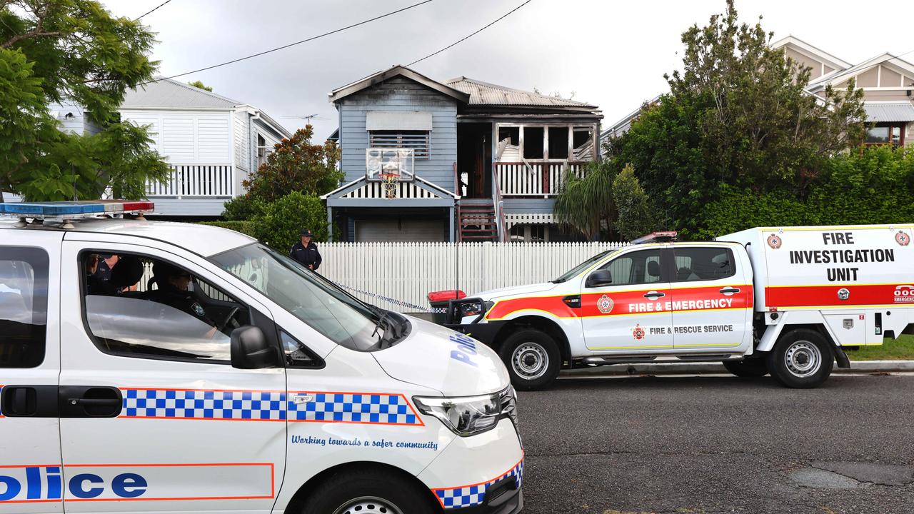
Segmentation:
{"type": "Polygon", "coordinates": [[[399,312],[423,307],[430,291],[461,289],[475,294],[557,278],[579,262],[622,242],[332,242],[319,245],[328,279],[370,294],[355,295],[399,312]]]}

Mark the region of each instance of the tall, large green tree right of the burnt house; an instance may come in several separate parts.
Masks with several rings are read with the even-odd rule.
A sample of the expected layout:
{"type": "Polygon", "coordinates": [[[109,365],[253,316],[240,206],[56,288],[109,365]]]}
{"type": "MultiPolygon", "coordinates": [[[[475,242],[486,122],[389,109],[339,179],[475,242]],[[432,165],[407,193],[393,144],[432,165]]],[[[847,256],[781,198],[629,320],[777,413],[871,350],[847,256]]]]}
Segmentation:
{"type": "Polygon", "coordinates": [[[706,27],[683,33],[683,70],[608,144],[686,235],[721,186],[804,198],[829,157],[865,134],[863,91],[804,91],[810,70],[772,49],[760,22],[739,24],[733,0],[706,27]]]}

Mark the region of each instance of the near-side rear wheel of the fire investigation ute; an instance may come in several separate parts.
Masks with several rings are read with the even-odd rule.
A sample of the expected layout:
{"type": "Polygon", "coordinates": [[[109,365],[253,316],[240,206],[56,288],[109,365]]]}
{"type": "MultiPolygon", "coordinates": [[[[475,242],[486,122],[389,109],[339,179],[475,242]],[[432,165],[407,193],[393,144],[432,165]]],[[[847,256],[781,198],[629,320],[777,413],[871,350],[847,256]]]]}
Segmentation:
{"type": "Polygon", "coordinates": [[[768,352],[768,369],[782,386],[809,389],[822,385],[832,374],[834,353],[822,334],[797,328],[782,334],[768,352]]]}

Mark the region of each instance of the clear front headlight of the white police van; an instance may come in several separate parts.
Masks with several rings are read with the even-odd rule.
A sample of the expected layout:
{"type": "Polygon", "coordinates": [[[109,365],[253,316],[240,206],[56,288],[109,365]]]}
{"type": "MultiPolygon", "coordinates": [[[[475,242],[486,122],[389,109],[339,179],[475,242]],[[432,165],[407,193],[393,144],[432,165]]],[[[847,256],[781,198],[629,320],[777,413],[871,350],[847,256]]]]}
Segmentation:
{"type": "Polygon", "coordinates": [[[415,396],[412,401],[420,412],[435,416],[454,434],[463,437],[493,429],[502,417],[500,392],[451,398],[415,396]]]}

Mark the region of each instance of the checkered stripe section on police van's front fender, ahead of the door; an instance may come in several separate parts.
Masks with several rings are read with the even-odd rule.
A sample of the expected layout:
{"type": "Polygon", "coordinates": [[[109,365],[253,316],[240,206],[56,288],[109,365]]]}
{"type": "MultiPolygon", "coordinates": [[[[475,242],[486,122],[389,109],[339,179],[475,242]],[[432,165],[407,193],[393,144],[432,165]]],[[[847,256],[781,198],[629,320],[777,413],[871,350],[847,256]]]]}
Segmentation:
{"type": "Polygon", "coordinates": [[[326,423],[423,424],[401,394],[357,392],[300,393],[310,402],[289,402],[289,421],[326,423]]]}

